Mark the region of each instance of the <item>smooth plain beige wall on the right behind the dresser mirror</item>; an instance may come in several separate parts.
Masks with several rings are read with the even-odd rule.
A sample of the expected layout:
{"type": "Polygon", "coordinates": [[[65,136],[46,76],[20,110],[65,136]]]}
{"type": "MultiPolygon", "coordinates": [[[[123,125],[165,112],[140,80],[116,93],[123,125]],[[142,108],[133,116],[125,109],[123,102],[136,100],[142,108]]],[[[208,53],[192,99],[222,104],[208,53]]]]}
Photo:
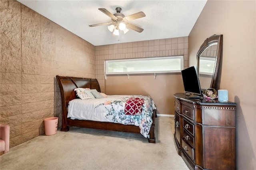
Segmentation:
{"type": "Polygon", "coordinates": [[[223,34],[220,89],[228,89],[237,103],[237,169],[256,167],[256,1],[208,0],[188,36],[189,65],[196,52],[213,34],[223,34]]]}

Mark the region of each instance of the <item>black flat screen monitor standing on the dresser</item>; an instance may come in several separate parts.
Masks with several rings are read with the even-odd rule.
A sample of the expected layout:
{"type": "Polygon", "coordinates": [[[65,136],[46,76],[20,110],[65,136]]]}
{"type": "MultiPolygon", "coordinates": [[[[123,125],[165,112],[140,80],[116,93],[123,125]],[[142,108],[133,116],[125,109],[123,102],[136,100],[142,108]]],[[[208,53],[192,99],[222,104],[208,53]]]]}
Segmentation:
{"type": "Polygon", "coordinates": [[[202,95],[197,70],[194,66],[181,71],[184,90],[187,93],[202,95]]]}

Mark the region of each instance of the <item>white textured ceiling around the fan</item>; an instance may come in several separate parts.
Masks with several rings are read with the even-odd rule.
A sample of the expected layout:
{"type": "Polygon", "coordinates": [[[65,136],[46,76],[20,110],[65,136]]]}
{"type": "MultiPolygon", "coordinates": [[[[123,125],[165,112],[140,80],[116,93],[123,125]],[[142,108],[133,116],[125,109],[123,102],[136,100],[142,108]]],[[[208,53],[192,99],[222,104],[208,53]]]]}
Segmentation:
{"type": "Polygon", "coordinates": [[[25,6],[66,28],[93,45],[137,42],[188,36],[207,0],[18,0],[25,6]],[[89,27],[111,22],[98,8],[112,14],[121,7],[125,16],[143,11],[146,17],[130,21],[144,29],[113,36],[108,26],[89,27]]]}

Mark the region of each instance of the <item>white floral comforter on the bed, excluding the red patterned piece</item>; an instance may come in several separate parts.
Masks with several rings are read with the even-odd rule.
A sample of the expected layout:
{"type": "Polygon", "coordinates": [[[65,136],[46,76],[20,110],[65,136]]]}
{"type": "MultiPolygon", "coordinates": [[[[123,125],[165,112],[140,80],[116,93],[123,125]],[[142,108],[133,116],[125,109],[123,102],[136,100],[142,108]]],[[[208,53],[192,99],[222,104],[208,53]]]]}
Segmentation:
{"type": "Polygon", "coordinates": [[[143,95],[108,95],[102,99],[74,99],[68,105],[68,118],[100,122],[121,123],[140,127],[140,133],[148,137],[152,125],[154,101],[143,95]],[[140,115],[127,115],[124,112],[125,103],[130,97],[144,99],[140,115]]]}

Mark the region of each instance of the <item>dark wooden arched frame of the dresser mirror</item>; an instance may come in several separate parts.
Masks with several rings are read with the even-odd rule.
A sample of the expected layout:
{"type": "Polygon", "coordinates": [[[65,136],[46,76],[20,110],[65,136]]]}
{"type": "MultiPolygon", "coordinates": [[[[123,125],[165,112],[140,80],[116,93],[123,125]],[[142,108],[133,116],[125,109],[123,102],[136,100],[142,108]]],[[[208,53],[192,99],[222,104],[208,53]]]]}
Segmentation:
{"type": "MultiPolygon", "coordinates": [[[[213,43],[218,43],[217,44],[217,51],[216,51],[216,58],[215,58],[214,71],[213,71],[213,74],[212,74],[212,81],[211,81],[211,84],[210,84],[210,87],[209,87],[209,88],[213,88],[213,89],[216,89],[216,79],[217,79],[217,74],[218,74],[218,67],[219,67],[219,63],[220,63],[220,58],[222,57],[221,56],[222,55],[222,39],[223,39],[223,35],[216,35],[216,34],[214,34],[213,36],[210,36],[209,38],[206,38],[206,40],[204,40],[204,43],[202,43],[200,49],[196,53],[197,69],[198,69],[198,73],[199,73],[199,67],[200,67],[199,57],[200,57],[200,55],[203,53],[203,51],[207,47],[209,47],[213,43]]],[[[216,90],[218,90],[218,89],[216,89],[216,90]]]]}

